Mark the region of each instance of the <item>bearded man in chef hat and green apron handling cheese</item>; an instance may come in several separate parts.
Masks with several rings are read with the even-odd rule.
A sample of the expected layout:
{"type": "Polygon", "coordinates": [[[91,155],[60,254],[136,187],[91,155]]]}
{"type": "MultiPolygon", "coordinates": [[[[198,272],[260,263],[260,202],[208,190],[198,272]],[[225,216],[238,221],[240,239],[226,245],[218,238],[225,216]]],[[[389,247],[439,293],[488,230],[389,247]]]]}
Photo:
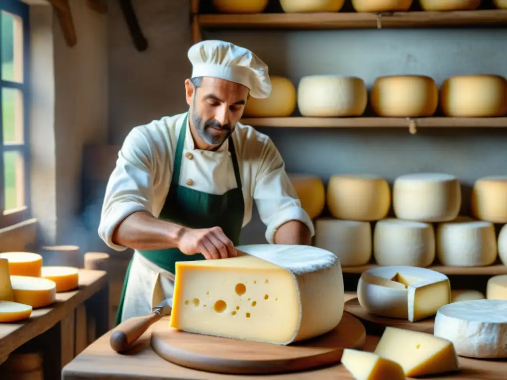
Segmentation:
{"type": "Polygon", "coordinates": [[[271,92],[266,64],[223,41],[188,57],[189,111],[133,128],[107,184],[98,233],[135,250],[117,324],[172,297],[176,261],[236,256],[252,200],[269,243],[309,245],[314,234],[273,142],[238,122],[249,96],[271,92]]]}

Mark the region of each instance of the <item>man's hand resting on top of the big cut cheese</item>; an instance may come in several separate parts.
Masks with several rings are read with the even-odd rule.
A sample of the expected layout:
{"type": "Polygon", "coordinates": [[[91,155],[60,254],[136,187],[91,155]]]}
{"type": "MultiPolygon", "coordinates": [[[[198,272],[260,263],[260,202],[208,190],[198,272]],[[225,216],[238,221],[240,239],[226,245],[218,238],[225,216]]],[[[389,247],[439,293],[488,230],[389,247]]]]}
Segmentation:
{"type": "Polygon", "coordinates": [[[186,255],[202,253],[207,260],[238,255],[234,244],[220,227],[186,229],[179,240],[178,249],[186,255]]]}

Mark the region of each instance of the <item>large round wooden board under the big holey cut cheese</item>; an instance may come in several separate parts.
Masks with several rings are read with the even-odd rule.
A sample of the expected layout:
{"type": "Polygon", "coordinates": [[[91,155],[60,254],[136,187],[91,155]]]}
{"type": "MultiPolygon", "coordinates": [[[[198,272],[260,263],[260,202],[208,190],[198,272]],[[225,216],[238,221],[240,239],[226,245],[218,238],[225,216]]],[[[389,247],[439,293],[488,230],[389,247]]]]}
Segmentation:
{"type": "Polygon", "coordinates": [[[327,334],[288,346],[193,334],[169,327],[169,318],[152,330],[151,346],[162,358],[184,367],[229,374],[302,371],[340,362],[344,348],[362,348],[363,324],[343,313],[327,334]]]}

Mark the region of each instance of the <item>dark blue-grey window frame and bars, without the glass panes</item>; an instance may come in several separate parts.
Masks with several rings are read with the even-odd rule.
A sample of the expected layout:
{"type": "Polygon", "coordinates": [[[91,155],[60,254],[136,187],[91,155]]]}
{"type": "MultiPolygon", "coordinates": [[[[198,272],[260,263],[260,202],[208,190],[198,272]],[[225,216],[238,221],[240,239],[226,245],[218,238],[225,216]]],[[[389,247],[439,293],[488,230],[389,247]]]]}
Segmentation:
{"type": "MultiPolygon", "coordinates": [[[[22,22],[23,30],[23,82],[11,82],[2,79],[2,64],[0,64],[0,228],[17,224],[30,218],[30,6],[21,0],[2,0],[0,12],[5,11],[18,16],[22,22]],[[11,88],[21,91],[23,102],[23,142],[4,145],[3,115],[2,115],[2,89],[11,88]],[[5,174],[4,152],[16,151],[23,158],[24,174],[24,204],[25,206],[7,210],[5,209],[5,174]]],[[[2,45],[2,21],[0,19],[0,46],[2,45]]]]}

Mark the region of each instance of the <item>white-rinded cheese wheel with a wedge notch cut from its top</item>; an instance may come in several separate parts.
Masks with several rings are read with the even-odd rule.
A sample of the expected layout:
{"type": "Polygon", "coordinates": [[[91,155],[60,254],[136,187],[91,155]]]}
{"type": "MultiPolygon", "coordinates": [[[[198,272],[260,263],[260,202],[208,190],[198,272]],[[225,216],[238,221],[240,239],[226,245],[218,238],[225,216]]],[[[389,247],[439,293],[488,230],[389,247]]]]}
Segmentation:
{"type": "Polygon", "coordinates": [[[451,289],[446,275],[430,269],[378,267],[363,272],[357,298],[368,313],[415,322],[447,305],[451,289]]]}

